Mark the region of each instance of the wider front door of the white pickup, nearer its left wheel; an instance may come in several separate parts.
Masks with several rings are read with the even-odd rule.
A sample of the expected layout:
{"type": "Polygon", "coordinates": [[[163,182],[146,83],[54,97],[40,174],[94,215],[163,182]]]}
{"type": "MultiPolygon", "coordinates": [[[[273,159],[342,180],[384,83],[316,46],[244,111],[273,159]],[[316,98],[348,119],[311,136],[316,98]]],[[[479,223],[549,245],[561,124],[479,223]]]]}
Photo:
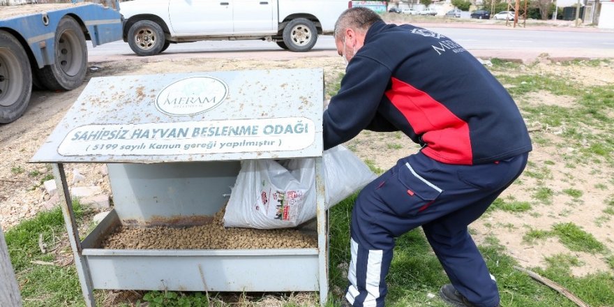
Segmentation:
{"type": "Polygon", "coordinates": [[[232,33],[234,0],[171,0],[168,13],[179,35],[232,33]]]}

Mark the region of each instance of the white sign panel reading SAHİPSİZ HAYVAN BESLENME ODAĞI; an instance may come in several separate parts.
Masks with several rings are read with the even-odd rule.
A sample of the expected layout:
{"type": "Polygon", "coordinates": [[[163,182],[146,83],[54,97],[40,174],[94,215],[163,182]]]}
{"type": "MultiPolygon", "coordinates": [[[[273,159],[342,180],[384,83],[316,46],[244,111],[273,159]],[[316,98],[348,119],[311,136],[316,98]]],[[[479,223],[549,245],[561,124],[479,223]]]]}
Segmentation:
{"type": "Polygon", "coordinates": [[[157,156],[203,153],[296,151],[315,142],[304,117],[86,125],[68,133],[61,156],[157,156]]]}

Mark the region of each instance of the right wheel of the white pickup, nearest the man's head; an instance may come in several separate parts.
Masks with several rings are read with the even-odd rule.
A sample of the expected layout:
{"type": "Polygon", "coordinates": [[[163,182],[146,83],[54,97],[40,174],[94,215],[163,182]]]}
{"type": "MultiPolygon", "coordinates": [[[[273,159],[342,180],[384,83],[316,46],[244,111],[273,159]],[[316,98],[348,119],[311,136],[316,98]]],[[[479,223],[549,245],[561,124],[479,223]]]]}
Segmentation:
{"type": "Polygon", "coordinates": [[[313,48],[317,40],[315,24],[305,18],[288,22],[283,29],[283,43],[290,51],[306,52],[313,48]]]}

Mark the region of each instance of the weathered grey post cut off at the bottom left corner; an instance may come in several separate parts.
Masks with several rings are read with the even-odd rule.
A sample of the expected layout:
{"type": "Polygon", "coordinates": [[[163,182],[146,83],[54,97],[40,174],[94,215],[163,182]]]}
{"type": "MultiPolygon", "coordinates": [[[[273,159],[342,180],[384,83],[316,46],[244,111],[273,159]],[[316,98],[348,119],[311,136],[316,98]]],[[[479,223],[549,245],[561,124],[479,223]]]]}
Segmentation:
{"type": "Polygon", "coordinates": [[[0,306],[21,307],[22,298],[15,280],[15,272],[10,264],[8,248],[0,225],[0,306]]]}

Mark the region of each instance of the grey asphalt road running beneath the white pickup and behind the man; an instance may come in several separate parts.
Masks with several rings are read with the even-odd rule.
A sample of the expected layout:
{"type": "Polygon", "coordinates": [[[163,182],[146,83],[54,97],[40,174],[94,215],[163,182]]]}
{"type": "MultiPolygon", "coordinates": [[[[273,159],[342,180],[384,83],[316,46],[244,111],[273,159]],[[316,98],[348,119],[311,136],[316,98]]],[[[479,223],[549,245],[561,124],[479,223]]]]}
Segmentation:
{"type": "MultiPolygon", "coordinates": [[[[453,27],[428,27],[455,40],[477,56],[518,58],[521,54],[537,56],[547,53],[551,57],[611,57],[614,58],[614,35],[600,31],[532,30],[525,28],[459,29],[453,27]]],[[[196,43],[171,45],[164,54],[156,57],[258,57],[293,58],[305,54],[285,52],[276,44],[262,40],[209,40],[196,43]],[[264,53],[263,53],[264,52],[264,53]]],[[[310,55],[336,54],[332,36],[320,36],[310,55]]],[[[127,43],[122,41],[91,48],[90,61],[112,61],[138,58],[127,43]]]]}

